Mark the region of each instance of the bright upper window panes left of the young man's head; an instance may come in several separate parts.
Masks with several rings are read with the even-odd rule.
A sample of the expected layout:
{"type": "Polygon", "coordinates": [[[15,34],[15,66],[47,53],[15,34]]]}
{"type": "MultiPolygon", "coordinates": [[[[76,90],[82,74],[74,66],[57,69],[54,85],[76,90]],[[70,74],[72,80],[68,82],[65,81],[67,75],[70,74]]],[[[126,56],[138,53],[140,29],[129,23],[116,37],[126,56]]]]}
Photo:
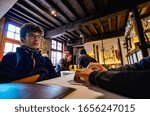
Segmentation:
{"type": "Polygon", "coordinates": [[[19,41],[20,40],[19,32],[20,32],[20,28],[19,27],[14,26],[12,24],[8,24],[6,37],[19,41]]]}

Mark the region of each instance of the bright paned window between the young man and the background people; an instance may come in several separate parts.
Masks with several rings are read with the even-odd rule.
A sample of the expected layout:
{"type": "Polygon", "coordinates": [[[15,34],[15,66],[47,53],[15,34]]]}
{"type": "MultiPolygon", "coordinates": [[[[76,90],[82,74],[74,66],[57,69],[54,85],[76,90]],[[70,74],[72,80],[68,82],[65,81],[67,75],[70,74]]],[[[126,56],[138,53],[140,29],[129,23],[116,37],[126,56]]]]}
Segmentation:
{"type": "Polygon", "coordinates": [[[63,44],[59,41],[52,40],[52,51],[51,51],[51,61],[54,66],[59,62],[62,58],[62,46],[63,44]]]}

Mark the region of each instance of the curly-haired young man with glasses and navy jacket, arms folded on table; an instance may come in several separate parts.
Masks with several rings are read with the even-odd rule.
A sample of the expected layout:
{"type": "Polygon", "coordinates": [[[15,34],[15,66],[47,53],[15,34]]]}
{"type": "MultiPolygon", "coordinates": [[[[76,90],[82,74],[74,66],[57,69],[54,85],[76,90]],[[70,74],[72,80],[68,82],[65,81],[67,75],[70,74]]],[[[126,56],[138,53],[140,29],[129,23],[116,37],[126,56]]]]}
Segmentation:
{"type": "Polygon", "coordinates": [[[54,67],[48,57],[43,57],[40,41],[43,30],[31,23],[24,24],[20,30],[22,46],[16,52],[7,53],[0,64],[0,83],[36,82],[55,78],[54,67]]]}

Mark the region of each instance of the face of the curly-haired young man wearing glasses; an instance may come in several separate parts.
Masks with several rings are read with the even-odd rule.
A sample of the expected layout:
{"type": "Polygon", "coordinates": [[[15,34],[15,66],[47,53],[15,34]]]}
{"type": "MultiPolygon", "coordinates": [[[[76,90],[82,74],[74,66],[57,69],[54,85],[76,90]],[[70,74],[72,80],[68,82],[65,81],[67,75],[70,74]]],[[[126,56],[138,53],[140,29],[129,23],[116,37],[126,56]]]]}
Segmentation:
{"type": "Polygon", "coordinates": [[[23,44],[30,48],[38,49],[40,47],[41,38],[42,36],[38,32],[27,33],[23,44]]]}

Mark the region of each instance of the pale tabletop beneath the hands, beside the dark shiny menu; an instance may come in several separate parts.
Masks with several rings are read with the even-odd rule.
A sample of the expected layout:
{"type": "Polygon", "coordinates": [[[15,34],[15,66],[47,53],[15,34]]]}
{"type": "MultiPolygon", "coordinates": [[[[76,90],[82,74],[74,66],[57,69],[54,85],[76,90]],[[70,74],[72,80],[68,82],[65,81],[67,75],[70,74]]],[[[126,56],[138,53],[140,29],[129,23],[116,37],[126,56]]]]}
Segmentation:
{"type": "Polygon", "coordinates": [[[104,98],[104,99],[124,99],[126,97],[111,93],[102,88],[92,86],[90,84],[82,85],[76,84],[73,81],[74,74],[69,74],[64,77],[58,77],[50,80],[45,80],[38,82],[40,84],[46,85],[61,85],[65,87],[72,87],[76,90],[64,99],[96,99],[96,98],[104,98]]]}

